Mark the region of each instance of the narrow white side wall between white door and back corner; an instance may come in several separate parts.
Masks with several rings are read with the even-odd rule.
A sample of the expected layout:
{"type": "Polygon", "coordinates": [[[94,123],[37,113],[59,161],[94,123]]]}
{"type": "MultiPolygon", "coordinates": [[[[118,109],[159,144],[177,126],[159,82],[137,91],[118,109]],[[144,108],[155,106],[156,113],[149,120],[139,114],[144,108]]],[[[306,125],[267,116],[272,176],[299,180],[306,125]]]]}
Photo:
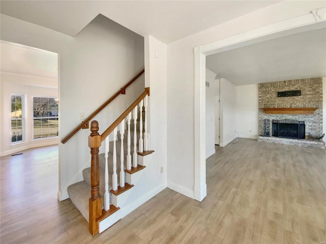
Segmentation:
{"type": "Polygon", "coordinates": [[[236,86],[220,79],[220,146],[226,146],[236,138],[236,86]]]}

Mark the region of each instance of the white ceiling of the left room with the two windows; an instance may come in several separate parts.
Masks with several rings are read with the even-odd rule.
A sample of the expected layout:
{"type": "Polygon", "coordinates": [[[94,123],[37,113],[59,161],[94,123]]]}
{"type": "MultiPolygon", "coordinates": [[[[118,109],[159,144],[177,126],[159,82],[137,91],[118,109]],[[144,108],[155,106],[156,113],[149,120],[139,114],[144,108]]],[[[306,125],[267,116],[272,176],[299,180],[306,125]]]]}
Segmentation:
{"type": "Polygon", "coordinates": [[[1,72],[58,78],[58,54],[1,42],[1,72]]]}

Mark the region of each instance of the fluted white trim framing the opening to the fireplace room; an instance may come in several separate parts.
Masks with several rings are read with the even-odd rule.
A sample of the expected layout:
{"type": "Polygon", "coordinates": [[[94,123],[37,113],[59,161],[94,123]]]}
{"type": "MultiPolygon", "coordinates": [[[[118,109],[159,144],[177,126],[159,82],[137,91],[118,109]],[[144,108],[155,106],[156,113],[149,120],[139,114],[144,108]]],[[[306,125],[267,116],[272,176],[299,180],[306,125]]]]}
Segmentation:
{"type": "MultiPolygon", "coordinates": [[[[242,34],[194,48],[195,59],[195,185],[194,198],[202,201],[207,195],[205,160],[205,69],[206,55],[247,46],[290,34],[314,29],[314,24],[325,22],[325,10],[315,9],[310,14],[265,25],[242,34]],[[307,28],[308,27],[308,28],[307,28]]],[[[324,23],[322,23],[324,24],[324,23]]]]}

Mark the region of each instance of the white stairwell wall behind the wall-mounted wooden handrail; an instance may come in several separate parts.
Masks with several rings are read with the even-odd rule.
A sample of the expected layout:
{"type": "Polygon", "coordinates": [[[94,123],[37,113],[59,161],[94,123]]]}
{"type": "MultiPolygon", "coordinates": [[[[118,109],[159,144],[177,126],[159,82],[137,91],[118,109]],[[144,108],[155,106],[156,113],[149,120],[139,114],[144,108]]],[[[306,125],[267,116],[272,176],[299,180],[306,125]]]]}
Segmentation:
{"type": "MultiPolygon", "coordinates": [[[[1,15],[1,38],[59,54],[61,137],[80,124],[79,113],[90,115],[144,68],[144,38],[101,15],[75,37],[1,15]]],[[[99,133],[143,90],[144,75],[126,90],[126,96],[119,96],[95,117],[99,133]]],[[[66,188],[70,184],[82,180],[82,170],[90,164],[89,133],[79,131],[66,144],[60,144],[58,197],[61,200],[68,197],[66,188]]]]}

